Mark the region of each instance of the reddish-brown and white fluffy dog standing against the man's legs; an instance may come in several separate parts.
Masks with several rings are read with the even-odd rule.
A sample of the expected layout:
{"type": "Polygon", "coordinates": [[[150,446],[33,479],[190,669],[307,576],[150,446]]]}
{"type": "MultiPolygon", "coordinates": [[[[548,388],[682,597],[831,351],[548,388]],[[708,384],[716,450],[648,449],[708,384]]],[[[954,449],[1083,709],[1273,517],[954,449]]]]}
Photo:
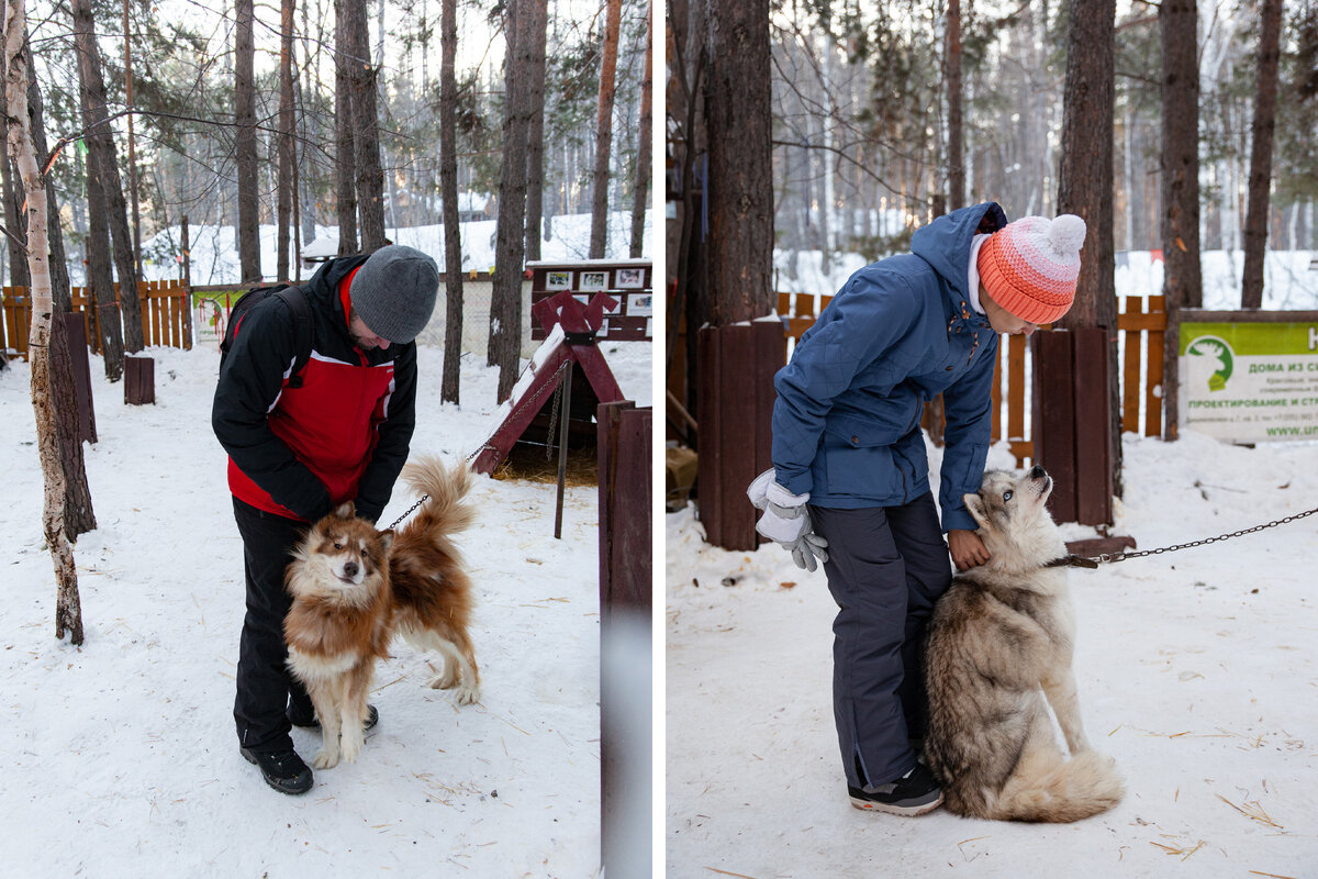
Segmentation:
{"type": "Polygon", "coordinates": [[[430,499],[401,531],[376,531],[344,503],[311,526],[285,576],[293,596],[283,621],[289,668],[306,685],[324,734],[312,759],[318,770],[351,763],[361,751],[370,677],[395,633],[443,655],[444,671],[431,687],[456,688],[460,704],[480,698],[467,634],[471,581],[451,539],[473,519],[464,503],[472,473],[427,459],[403,468],[403,480],[430,499]]]}

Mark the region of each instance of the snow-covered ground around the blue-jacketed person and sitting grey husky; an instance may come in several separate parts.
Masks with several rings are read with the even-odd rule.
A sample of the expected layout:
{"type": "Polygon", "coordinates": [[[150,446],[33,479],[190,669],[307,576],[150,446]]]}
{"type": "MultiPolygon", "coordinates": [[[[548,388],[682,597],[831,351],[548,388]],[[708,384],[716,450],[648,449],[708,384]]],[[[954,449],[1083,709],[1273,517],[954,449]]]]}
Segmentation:
{"type": "MultiPolygon", "coordinates": [[[[1127,435],[1124,455],[1116,532],[1140,548],[1318,507],[1313,444],[1127,435]]],[[[846,797],[824,573],[772,544],[712,548],[692,507],[671,514],[667,876],[1318,875],[1314,557],[1318,517],[1073,571],[1082,713],[1124,801],[1060,826],[902,818],[846,797]]]]}

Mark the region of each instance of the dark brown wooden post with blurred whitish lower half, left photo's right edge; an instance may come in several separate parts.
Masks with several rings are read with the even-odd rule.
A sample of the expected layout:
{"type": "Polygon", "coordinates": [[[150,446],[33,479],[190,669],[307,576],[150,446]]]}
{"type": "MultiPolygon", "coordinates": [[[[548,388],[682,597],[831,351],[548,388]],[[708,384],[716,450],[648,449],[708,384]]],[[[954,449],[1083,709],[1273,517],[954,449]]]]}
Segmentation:
{"type": "Polygon", "coordinates": [[[629,401],[596,410],[600,480],[600,820],[609,875],[650,858],[651,424],[629,401]]]}

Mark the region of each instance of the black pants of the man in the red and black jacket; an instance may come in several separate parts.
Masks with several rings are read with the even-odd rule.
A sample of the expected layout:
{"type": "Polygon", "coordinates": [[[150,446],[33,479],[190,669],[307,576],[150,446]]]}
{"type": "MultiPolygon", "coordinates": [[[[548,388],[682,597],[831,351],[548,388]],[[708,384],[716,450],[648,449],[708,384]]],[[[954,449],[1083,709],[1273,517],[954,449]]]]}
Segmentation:
{"type": "Polygon", "coordinates": [[[243,747],[281,751],[293,747],[289,710],[297,717],[312,716],[311,697],[289,672],[289,648],[283,642],[283,618],[293,604],[283,589],[283,571],[307,526],[237,498],[233,498],[233,518],[243,535],[246,573],[246,617],[239,642],[233,721],[243,747]]]}

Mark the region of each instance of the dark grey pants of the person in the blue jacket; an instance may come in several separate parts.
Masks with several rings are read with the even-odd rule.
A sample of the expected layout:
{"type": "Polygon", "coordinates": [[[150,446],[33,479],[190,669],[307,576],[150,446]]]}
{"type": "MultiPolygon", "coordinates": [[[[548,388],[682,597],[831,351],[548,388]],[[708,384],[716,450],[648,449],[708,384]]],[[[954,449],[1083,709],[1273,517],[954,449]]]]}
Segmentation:
{"type": "Polygon", "coordinates": [[[833,714],[847,784],[894,781],[915,768],[924,738],[921,656],[933,604],[952,585],[952,563],[933,496],[904,506],[811,506],[828,540],[824,563],[837,602],[833,714]]]}

